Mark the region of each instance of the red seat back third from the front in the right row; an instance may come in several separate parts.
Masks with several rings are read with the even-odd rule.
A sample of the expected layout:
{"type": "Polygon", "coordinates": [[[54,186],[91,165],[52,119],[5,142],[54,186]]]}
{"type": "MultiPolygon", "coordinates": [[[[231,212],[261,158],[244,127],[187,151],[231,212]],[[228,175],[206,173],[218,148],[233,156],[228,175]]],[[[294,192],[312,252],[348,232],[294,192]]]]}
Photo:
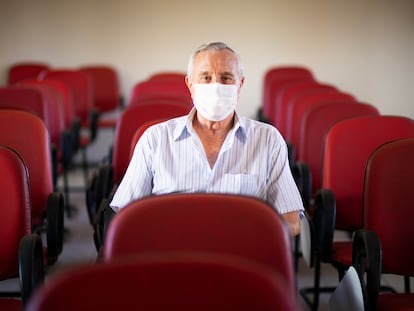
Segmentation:
{"type": "Polygon", "coordinates": [[[337,121],[360,115],[379,115],[379,111],[372,105],[357,102],[325,102],[304,112],[300,121],[297,160],[309,167],[312,194],[321,187],[322,148],[327,130],[337,121]]]}

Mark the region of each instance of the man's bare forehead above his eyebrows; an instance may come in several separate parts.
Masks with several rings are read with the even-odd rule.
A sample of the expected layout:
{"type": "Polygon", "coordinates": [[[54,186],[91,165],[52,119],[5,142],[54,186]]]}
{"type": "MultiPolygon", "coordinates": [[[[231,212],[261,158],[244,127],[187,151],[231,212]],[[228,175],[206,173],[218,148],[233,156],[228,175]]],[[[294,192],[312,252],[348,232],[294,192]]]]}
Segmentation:
{"type": "Polygon", "coordinates": [[[207,50],[199,52],[194,58],[195,72],[233,72],[237,73],[237,58],[233,52],[225,49],[220,51],[207,50]]]}

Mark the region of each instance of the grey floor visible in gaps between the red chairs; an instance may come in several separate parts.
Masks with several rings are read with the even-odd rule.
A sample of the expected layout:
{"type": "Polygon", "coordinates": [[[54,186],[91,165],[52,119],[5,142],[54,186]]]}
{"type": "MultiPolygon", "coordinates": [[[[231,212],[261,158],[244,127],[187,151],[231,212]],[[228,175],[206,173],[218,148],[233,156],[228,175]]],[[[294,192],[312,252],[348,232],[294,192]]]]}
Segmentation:
{"type": "MultiPolygon", "coordinates": [[[[83,176],[80,169],[74,170],[70,174],[70,186],[76,189],[84,186],[83,176]]],[[[96,260],[97,252],[92,238],[92,227],[85,207],[85,193],[83,191],[72,191],[70,201],[76,206],[76,211],[71,218],[65,219],[67,234],[62,254],[56,264],[48,271],[49,277],[54,277],[69,267],[81,265],[84,263],[93,263],[96,260]]],[[[47,279],[46,279],[47,282],[47,279]]],[[[313,269],[308,268],[303,260],[300,260],[299,272],[297,275],[298,288],[312,286],[313,269]]],[[[321,286],[335,286],[337,284],[336,271],[329,265],[322,265],[321,286]]],[[[395,286],[402,290],[402,280],[400,278],[387,276],[384,277],[383,283],[395,286]]],[[[0,291],[4,289],[18,288],[17,281],[0,282],[0,291]]],[[[320,297],[319,310],[329,310],[328,301],[330,294],[322,294],[320,297]]],[[[300,299],[300,298],[298,298],[300,299]]],[[[307,307],[303,303],[304,310],[307,307]]]]}

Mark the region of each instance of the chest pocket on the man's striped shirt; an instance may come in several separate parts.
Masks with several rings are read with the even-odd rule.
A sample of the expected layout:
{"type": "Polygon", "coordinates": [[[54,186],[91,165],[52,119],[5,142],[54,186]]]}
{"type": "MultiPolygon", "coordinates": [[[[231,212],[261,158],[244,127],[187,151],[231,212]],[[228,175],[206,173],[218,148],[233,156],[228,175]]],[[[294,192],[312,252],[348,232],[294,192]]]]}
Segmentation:
{"type": "Polygon", "coordinates": [[[225,174],[221,179],[219,192],[256,195],[259,189],[258,177],[250,174],[225,174]]]}

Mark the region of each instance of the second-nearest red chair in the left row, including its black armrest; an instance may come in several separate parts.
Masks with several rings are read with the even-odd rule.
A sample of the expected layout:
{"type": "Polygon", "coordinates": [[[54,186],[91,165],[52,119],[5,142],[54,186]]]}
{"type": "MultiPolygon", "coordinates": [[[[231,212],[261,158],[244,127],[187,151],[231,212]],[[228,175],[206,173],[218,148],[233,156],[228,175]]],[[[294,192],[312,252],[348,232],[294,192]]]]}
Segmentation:
{"type": "Polygon", "coordinates": [[[24,159],[30,176],[34,232],[46,231],[47,264],[52,265],[63,246],[64,198],[53,191],[49,132],[32,113],[0,110],[0,144],[14,148],[24,159]]]}

